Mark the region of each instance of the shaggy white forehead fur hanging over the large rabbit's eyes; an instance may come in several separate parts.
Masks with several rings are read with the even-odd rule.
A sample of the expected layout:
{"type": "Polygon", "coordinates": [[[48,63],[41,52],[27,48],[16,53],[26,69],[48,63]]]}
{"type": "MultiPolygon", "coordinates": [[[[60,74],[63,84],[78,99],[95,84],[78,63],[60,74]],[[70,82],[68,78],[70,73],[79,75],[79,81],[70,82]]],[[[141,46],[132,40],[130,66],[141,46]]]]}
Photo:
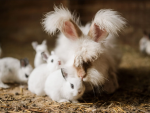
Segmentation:
{"type": "Polygon", "coordinates": [[[101,45],[93,40],[90,40],[89,38],[79,40],[77,48],[78,49],[76,49],[75,53],[76,67],[82,64],[83,61],[85,62],[87,62],[87,60],[90,60],[90,62],[95,61],[99,57],[99,55],[103,52],[103,48],[101,48],[101,45]]]}

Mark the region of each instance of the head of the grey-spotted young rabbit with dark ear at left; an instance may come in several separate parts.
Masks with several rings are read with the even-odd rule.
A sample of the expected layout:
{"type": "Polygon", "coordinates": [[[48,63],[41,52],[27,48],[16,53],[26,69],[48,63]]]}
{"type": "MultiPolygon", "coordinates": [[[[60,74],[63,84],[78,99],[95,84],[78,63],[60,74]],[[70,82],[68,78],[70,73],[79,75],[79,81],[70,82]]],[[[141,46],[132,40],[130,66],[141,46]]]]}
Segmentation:
{"type": "Polygon", "coordinates": [[[27,58],[20,60],[20,70],[19,70],[19,79],[22,82],[27,82],[28,78],[32,72],[33,68],[29,64],[29,61],[27,58]]]}

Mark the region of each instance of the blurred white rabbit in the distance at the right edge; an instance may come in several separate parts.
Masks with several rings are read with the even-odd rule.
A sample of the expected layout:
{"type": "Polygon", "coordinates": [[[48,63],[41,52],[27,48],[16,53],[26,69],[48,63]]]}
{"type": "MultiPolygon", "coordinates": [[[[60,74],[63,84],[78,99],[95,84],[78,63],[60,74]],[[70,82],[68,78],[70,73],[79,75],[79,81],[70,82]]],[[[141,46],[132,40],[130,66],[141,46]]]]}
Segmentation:
{"type": "Polygon", "coordinates": [[[140,52],[142,53],[147,53],[146,48],[148,46],[148,43],[147,43],[149,41],[148,38],[149,38],[148,33],[144,31],[144,36],[139,41],[139,49],[140,49],[140,52]]]}

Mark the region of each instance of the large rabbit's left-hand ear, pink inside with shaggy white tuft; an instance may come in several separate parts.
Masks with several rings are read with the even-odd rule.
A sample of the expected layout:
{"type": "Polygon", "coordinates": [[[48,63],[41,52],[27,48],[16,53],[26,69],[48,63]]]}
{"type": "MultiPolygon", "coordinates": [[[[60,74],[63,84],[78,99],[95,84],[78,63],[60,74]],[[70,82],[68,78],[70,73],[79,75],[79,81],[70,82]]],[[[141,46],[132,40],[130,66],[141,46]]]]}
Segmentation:
{"type": "Polygon", "coordinates": [[[54,7],[54,11],[46,14],[42,24],[45,31],[50,34],[54,34],[58,29],[72,40],[76,40],[82,35],[82,31],[75,23],[75,17],[64,7],[54,7]]]}

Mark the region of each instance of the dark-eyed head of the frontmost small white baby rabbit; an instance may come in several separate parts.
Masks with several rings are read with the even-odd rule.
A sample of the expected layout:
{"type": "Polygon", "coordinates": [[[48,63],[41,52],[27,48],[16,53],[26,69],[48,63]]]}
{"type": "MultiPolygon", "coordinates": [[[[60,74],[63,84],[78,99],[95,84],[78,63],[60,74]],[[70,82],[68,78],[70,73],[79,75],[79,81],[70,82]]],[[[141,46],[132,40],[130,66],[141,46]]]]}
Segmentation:
{"type": "Polygon", "coordinates": [[[61,69],[62,76],[65,79],[65,88],[63,92],[65,92],[66,97],[69,100],[76,100],[83,95],[85,91],[85,86],[81,78],[72,77],[72,72],[70,72],[71,71],[67,71],[64,68],[61,69]]]}

